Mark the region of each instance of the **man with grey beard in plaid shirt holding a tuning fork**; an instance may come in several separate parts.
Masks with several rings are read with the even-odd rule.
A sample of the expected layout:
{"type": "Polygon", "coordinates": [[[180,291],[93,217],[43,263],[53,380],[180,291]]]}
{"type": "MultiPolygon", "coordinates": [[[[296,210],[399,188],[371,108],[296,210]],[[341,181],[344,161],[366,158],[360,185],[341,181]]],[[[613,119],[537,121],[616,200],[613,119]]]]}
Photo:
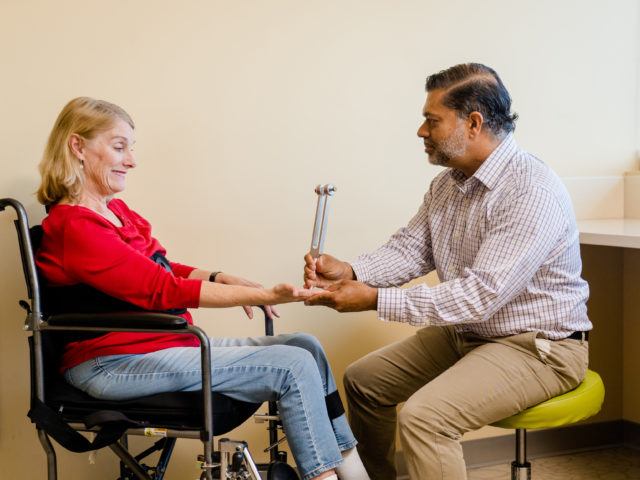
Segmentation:
{"type": "Polygon", "coordinates": [[[425,327],[345,374],[372,479],[396,478],[396,421],[411,479],[465,479],[465,432],[576,387],[587,368],[588,287],[565,188],[517,146],[494,70],[456,65],[426,90],[418,136],[447,169],[418,213],[351,264],[305,257],[306,286],[326,288],[307,304],[425,327]],[[439,285],[398,288],[432,270],[439,285]]]}

